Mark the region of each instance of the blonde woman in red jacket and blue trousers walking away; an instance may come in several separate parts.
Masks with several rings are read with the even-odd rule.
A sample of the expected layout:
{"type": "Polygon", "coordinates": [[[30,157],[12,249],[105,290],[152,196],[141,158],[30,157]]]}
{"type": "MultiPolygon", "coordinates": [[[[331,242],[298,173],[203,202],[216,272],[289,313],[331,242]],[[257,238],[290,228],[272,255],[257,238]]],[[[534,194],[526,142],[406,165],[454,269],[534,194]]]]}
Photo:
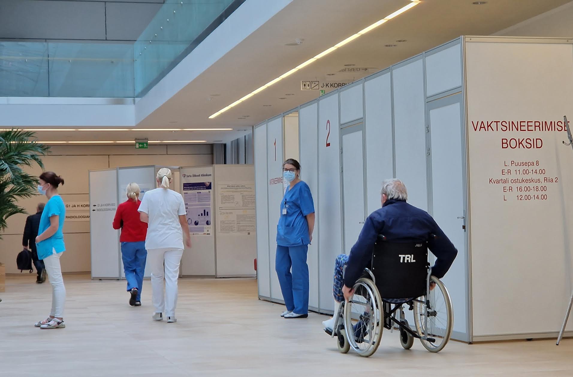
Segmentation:
{"type": "Polygon", "coordinates": [[[117,206],[115,218],[113,219],[113,229],[121,228],[121,259],[123,260],[123,270],[125,280],[127,280],[127,292],[129,305],[141,306],[141,294],[143,285],[143,273],[147,250],[145,249],[145,237],[147,234],[147,224],[139,219],[138,208],[139,186],[137,183],[129,183],[125,190],[127,201],[117,206]]]}

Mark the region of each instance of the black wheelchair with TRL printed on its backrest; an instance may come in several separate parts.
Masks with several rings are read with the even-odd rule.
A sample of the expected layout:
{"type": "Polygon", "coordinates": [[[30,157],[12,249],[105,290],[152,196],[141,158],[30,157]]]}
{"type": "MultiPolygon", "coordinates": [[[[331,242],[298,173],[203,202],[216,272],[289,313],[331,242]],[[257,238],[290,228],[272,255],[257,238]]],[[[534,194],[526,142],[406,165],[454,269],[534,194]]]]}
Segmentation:
{"type": "Polygon", "coordinates": [[[444,283],[432,276],[427,255],[427,242],[387,242],[378,236],[370,268],[354,284],[351,300],[335,313],[333,330],[327,330],[340,352],[352,348],[360,356],[374,354],[384,328],[398,329],[405,349],[414,339],[430,352],[445,347],[454,323],[452,300],[444,283]],[[413,311],[414,328],[405,306],[413,311]]]}

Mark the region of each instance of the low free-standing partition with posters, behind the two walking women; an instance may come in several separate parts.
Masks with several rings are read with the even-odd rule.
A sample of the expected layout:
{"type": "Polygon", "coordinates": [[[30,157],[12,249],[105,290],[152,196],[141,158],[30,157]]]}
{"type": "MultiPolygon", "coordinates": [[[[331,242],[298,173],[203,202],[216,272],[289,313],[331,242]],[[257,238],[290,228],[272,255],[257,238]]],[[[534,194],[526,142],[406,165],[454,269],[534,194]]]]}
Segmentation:
{"type": "MultiPolygon", "coordinates": [[[[117,206],[131,182],[145,193],[156,188],[163,166],[89,171],[92,278],[124,278],[120,231],[112,227],[117,206]]],[[[180,276],[254,277],[256,221],[253,165],[169,167],[170,189],[182,194],[191,234],[180,276]]],[[[151,271],[146,265],[145,277],[151,271]]]]}

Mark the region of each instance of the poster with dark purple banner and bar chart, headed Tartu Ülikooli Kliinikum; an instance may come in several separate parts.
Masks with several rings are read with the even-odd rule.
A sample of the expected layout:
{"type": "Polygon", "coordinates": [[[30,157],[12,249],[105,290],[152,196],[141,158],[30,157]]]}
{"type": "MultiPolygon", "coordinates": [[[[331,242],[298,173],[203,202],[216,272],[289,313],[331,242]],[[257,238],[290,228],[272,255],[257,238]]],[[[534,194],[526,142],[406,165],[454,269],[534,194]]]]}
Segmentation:
{"type": "Polygon", "coordinates": [[[192,235],[213,233],[213,168],[194,168],[182,174],[183,202],[187,211],[187,225],[192,235]]]}

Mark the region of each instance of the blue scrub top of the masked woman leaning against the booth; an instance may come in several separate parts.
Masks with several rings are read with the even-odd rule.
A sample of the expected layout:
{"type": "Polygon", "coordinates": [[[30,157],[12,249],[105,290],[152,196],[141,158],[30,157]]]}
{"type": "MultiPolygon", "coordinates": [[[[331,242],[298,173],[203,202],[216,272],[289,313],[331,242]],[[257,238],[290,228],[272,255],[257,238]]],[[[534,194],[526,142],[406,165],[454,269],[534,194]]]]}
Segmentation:
{"type": "Polygon", "coordinates": [[[314,213],[311,189],[308,184],[299,182],[291,189],[286,189],[281,201],[281,217],[277,225],[277,245],[300,246],[308,245],[311,239],[308,234],[306,216],[314,213]],[[286,209],[286,214],[284,210],[286,209]]]}

